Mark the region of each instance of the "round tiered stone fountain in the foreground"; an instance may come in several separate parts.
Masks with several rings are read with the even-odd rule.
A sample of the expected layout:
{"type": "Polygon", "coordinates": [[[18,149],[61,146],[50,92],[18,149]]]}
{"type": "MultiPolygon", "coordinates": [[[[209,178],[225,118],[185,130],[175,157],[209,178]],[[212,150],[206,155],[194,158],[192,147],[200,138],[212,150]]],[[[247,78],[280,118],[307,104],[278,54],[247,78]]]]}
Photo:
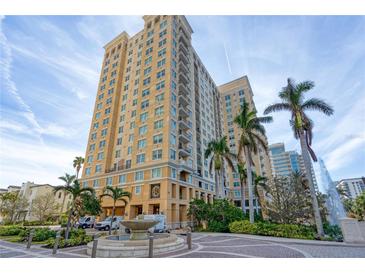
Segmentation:
{"type": "MultiPolygon", "coordinates": [[[[148,230],[155,226],[158,221],[146,220],[143,215],[135,220],[124,220],[121,224],[129,228],[130,235],[102,236],[98,240],[96,256],[102,258],[130,258],[147,257],[149,238],[148,230]]],[[[92,242],[87,245],[87,254],[92,251],[92,242]]],[[[171,252],[184,247],[184,240],[175,234],[154,234],[153,253],[155,255],[171,252]]]]}

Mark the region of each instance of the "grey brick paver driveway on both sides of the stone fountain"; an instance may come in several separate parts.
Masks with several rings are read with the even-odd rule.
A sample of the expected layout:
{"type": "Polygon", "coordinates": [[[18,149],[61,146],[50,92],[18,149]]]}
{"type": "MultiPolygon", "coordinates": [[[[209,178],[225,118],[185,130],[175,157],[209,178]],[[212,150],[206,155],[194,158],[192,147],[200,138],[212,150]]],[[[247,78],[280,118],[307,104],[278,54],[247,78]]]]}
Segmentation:
{"type": "MultiPolygon", "coordinates": [[[[185,236],[181,236],[184,237],[185,236]]],[[[52,250],[0,240],[0,258],[86,258],[86,246],[52,250]]],[[[193,233],[193,248],[161,254],[168,258],[365,258],[365,245],[223,233],[193,233]]]]}

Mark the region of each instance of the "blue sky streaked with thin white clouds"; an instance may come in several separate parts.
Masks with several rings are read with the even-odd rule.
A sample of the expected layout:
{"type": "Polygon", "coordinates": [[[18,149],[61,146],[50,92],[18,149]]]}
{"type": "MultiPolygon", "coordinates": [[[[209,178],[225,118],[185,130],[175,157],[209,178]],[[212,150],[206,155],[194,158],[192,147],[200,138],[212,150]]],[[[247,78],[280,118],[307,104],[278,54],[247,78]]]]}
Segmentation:
{"type": "MultiPolygon", "coordinates": [[[[248,75],[257,109],[278,101],[287,77],[313,80],[310,97],[332,117],[315,121],[313,148],[333,179],[365,176],[365,17],[188,16],[193,45],[216,83],[248,75]]],[[[141,16],[7,16],[0,23],[0,187],[58,184],[84,156],[103,45],[141,16]]],[[[298,150],[288,113],[270,143],[298,150]]]]}

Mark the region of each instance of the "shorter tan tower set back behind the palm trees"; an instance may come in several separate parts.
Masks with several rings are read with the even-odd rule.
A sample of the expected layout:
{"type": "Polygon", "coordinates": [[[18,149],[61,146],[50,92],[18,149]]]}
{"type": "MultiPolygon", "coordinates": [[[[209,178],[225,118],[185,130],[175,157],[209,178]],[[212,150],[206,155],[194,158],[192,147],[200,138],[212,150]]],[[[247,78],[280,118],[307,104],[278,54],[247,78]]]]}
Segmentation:
{"type": "MultiPolygon", "coordinates": [[[[227,136],[227,141],[232,153],[237,154],[240,140],[240,129],[237,124],[234,123],[234,118],[240,113],[241,105],[244,101],[249,104],[251,110],[256,110],[253,100],[253,92],[250,86],[250,82],[247,76],[243,76],[229,83],[218,87],[221,96],[221,108],[223,114],[223,135],[227,136]]],[[[267,143],[266,136],[261,136],[267,143]]],[[[244,155],[242,160],[245,161],[244,155]]],[[[259,146],[258,153],[253,155],[254,166],[252,167],[256,175],[271,178],[271,166],[268,152],[265,152],[264,148],[259,146]]],[[[226,166],[227,180],[226,191],[229,191],[229,196],[235,201],[235,204],[241,206],[241,190],[239,174],[232,172],[232,170],[226,166]]],[[[245,197],[248,197],[248,190],[246,187],[245,197]]],[[[254,199],[254,205],[257,207],[257,197],[254,199]]],[[[246,205],[248,206],[248,200],[246,199],[246,205]]]]}

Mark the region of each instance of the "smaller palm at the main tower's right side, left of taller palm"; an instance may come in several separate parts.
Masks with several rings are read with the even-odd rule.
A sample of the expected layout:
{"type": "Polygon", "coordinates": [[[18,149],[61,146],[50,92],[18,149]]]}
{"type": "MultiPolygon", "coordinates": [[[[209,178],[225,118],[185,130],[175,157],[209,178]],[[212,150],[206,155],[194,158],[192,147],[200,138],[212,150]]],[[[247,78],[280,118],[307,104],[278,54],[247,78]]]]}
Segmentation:
{"type": "Polygon", "coordinates": [[[232,169],[232,171],[235,171],[233,160],[236,158],[236,156],[229,151],[229,147],[227,145],[227,137],[224,136],[221,139],[217,140],[211,140],[208,143],[207,149],[204,152],[204,158],[208,159],[211,156],[210,163],[209,163],[209,171],[212,172],[213,164],[214,164],[214,170],[216,175],[216,185],[215,185],[215,193],[216,196],[219,195],[219,183],[218,178],[220,180],[220,183],[222,184],[222,195],[224,195],[223,191],[223,170],[224,170],[224,161],[227,162],[229,167],[232,169]]]}

